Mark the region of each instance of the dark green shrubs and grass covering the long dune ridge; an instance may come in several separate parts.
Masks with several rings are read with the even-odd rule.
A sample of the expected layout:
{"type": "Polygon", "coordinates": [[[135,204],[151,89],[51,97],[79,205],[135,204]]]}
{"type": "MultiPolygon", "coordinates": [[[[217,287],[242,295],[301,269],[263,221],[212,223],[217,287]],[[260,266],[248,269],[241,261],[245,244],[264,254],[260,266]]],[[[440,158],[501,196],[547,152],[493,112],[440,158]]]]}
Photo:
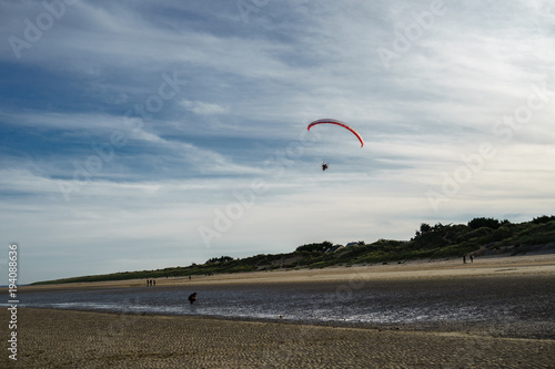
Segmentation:
{"type": "Polygon", "coordinates": [[[542,247],[555,247],[555,216],[539,216],[531,222],[511,223],[477,217],[464,224],[423,223],[410,240],[379,239],[372,244],[357,242],[349,247],[335,247],[331,242],[299,246],[287,254],[260,254],[245,258],[213,257],[202,265],[170,267],[158,270],[123,271],[47,280],[33,285],[169,278],[214,273],[241,273],[278,268],[325,268],[334,265],[403,263],[410,259],[524,254],[542,247]]]}

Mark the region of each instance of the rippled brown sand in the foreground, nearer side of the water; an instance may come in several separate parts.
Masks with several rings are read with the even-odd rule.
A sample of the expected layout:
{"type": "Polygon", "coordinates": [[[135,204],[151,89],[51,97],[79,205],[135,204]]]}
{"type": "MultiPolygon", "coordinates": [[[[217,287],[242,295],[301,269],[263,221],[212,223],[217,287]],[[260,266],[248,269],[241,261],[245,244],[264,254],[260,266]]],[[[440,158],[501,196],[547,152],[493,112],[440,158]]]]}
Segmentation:
{"type": "MultiPolygon", "coordinates": [[[[7,319],[6,310],[2,319],[7,319]]],[[[554,368],[555,341],[20,309],[19,368],[554,368]]],[[[6,320],[4,320],[6,321],[6,320]]],[[[6,340],[4,340],[6,346],[6,340]]],[[[2,368],[14,367],[7,350],[2,368]]]]}

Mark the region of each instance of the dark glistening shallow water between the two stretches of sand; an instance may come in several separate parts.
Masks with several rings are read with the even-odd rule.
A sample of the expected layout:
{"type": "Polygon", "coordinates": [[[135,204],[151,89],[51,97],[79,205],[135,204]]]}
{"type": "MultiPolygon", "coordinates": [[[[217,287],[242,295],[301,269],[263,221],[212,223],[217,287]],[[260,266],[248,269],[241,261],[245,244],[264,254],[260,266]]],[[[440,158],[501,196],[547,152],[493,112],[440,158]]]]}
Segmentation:
{"type": "MultiPolygon", "coordinates": [[[[141,287],[20,294],[21,307],[280,319],[316,324],[555,326],[553,277],[141,287]],[[198,293],[191,305],[188,296],[198,293]]],[[[3,304],[6,305],[6,304],[3,304]]]]}

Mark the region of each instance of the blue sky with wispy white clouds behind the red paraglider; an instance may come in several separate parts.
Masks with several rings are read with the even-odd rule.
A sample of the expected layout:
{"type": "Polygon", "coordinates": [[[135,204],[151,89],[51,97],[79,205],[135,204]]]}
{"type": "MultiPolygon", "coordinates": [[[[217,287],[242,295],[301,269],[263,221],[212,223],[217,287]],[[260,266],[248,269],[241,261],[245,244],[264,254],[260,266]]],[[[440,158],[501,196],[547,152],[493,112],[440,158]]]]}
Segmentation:
{"type": "Polygon", "coordinates": [[[554,212],[552,1],[0,8],[6,279],[554,212]]]}

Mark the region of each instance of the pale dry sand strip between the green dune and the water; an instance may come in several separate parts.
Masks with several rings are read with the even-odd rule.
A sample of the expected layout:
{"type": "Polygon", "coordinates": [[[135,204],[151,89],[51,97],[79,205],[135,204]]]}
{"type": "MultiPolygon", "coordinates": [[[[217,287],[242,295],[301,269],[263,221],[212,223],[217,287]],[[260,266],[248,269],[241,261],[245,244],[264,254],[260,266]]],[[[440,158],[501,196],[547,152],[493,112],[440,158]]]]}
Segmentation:
{"type": "MultiPolygon", "coordinates": [[[[157,278],[157,286],[202,286],[229,284],[280,284],[296,281],[349,281],[351,279],[391,280],[487,277],[503,275],[555,275],[555,253],[522,256],[475,258],[474,263],[462,259],[408,260],[403,263],[376,264],[352,267],[274,269],[235,274],[193,275],[157,278]]],[[[60,285],[26,286],[22,290],[63,288],[124,288],[143,287],[145,279],[70,283],[60,285]]],[[[1,290],[1,289],[0,289],[1,290]]]]}

